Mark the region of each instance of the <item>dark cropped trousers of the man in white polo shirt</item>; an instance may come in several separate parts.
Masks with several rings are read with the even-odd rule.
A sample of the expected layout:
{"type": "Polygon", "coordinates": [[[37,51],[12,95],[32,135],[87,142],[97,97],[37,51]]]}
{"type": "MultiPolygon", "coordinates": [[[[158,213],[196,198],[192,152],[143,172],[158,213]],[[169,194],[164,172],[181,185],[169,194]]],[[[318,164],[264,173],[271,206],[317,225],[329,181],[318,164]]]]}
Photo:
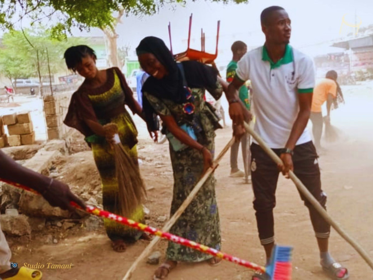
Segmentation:
{"type": "MultiPolygon", "coordinates": [[[[273,149],[279,155],[279,149],[273,149]]],[[[320,169],[312,141],[297,145],[293,155],[294,174],[326,209],[326,194],[321,189],[320,169]]],[[[277,165],[257,144],[251,144],[251,181],[254,191],[254,209],[262,245],[275,242],[273,208],[276,206],[276,186],[279,177],[277,165]]],[[[316,237],[328,238],[330,225],[300,194],[307,206],[316,237]]]]}

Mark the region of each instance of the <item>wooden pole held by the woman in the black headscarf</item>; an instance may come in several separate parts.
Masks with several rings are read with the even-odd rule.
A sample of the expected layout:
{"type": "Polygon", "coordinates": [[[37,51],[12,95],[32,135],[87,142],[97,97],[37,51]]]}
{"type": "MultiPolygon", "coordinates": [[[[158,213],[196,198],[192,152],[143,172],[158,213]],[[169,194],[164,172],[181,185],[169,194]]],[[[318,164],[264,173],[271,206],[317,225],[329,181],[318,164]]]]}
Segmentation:
{"type": "MultiPolygon", "coordinates": [[[[186,197],[186,199],[184,200],[182,205],[179,207],[179,209],[175,212],[175,214],[173,214],[173,216],[170,218],[170,220],[168,220],[167,223],[164,225],[164,227],[162,228],[162,231],[169,231],[170,228],[173,226],[173,224],[175,224],[175,222],[178,220],[178,218],[184,212],[186,207],[188,207],[188,205],[192,202],[195,195],[198,193],[198,191],[201,189],[203,184],[206,182],[207,178],[209,178],[209,176],[214,172],[214,170],[216,169],[219,161],[223,158],[225,153],[231,148],[234,141],[235,141],[235,139],[232,138],[229,141],[229,143],[223,148],[223,150],[220,152],[220,154],[217,156],[216,160],[214,161],[214,167],[213,168],[210,167],[209,169],[207,169],[206,173],[203,175],[203,177],[200,179],[200,181],[198,181],[198,183],[195,185],[194,189],[189,193],[188,197],[186,197]]],[[[150,254],[151,250],[153,249],[154,246],[156,246],[156,244],[159,242],[159,240],[160,240],[160,237],[156,236],[149,243],[149,245],[144,249],[144,251],[142,251],[141,255],[138,256],[138,258],[133,262],[133,264],[131,265],[131,267],[129,268],[129,270],[127,271],[126,275],[123,277],[122,280],[131,279],[132,273],[135,271],[138,264],[150,254]]]]}

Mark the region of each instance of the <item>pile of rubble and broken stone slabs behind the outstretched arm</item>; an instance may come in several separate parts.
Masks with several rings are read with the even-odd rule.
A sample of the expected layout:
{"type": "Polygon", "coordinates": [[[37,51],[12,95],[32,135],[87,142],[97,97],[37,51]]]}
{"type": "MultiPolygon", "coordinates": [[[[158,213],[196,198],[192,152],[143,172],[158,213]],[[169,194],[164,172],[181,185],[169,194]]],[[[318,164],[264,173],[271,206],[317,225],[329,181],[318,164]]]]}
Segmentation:
{"type": "MultiPolygon", "coordinates": [[[[7,149],[16,148],[21,149],[21,147],[7,149]]],[[[10,152],[10,155],[12,153],[16,152],[10,152]]],[[[63,158],[67,153],[68,149],[64,140],[53,140],[38,147],[38,151],[32,158],[19,162],[26,168],[59,178],[60,175],[56,172],[54,162],[63,158]]],[[[100,192],[93,190],[88,193],[85,189],[83,191],[82,196],[79,196],[85,200],[85,203],[102,207],[97,202],[100,200],[98,197],[102,197],[100,192]]],[[[73,192],[76,193],[76,190],[73,189],[73,192]]],[[[52,207],[41,195],[6,183],[0,183],[0,212],[1,228],[8,236],[31,237],[31,234],[41,233],[47,244],[57,243],[63,231],[73,228],[91,231],[103,227],[101,218],[89,216],[82,211],[70,213],[58,207],[52,207]]]]}

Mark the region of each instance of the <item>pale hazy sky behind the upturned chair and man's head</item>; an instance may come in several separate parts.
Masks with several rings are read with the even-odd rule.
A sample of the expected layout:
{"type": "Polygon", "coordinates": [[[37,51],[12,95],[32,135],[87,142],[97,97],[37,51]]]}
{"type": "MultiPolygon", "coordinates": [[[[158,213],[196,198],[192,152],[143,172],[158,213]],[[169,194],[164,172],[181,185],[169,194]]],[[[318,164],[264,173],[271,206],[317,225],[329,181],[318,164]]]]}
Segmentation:
{"type": "MultiPolygon", "coordinates": [[[[340,33],[344,15],[345,21],[354,24],[356,11],[357,22],[362,22],[361,27],[373,24],[372,0],[250,0],[248,4],[226,5],[202,0],[187,2],[185,7],[175,5],[175,9],[170,5],[165,6],[154,16],[123,18],[123,24],[117,26],[118,46],[129,45],[134,53],[140,40],[149,35],[162,38],[169,46],[167,25],[170,21],[174,53],[182,52],[186,49],[186,42],[183,40],[188,37],[191,13],[192,38],[195,38],[191,47],[195,49],[200,49],[200,33],[203,28],[206,33],[206,50],[214,52],[218,20],[221,21],[219,49],[229,50],[235,40],[242,40],[248,46],[259,46],[264,42],[260,29],[260,13],[272,5],[282,6],[288,11],[292,20],[291,44],[306,50],[305,52],[315,51],[315,47],[307,49],[305,46],[344,37],[354,31],[354,28],[343,25],[340,33]]],[[[27,27],[27,22],[23,22],[23,27],[27,27]]],[[[74,30],[73,35],[102,36],[103,33],[100,29],[93,28],[90,32],[74,30]]],[[[319,50],[320,47],[317,46],[316,51],[319,50]]],[[[228,53],[219,53],[219,56],[226,55],[228,53]]]]}

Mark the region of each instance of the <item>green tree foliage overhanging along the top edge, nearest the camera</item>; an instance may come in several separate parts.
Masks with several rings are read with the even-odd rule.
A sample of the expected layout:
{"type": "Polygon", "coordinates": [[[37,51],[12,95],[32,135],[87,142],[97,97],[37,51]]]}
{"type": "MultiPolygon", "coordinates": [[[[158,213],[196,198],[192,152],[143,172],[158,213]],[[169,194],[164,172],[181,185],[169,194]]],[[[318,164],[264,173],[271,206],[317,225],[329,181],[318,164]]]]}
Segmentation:
{"type": "MultiPolygon", "coordinates": [[[[210,0],[222,3],[247,3],[248,0],[210,0]]],[[[23,18],[45,24],[54,19],[51,34],[66,36],[72,27],[89,30],[107,28],[115,23],[114,12],[128,15],[153,15],[165,3],[185,3],[184,0],[0,0],[0,27],[12,29],[23,18]],[[65,34],[65,35],[64,35],[65,34]]]]}

